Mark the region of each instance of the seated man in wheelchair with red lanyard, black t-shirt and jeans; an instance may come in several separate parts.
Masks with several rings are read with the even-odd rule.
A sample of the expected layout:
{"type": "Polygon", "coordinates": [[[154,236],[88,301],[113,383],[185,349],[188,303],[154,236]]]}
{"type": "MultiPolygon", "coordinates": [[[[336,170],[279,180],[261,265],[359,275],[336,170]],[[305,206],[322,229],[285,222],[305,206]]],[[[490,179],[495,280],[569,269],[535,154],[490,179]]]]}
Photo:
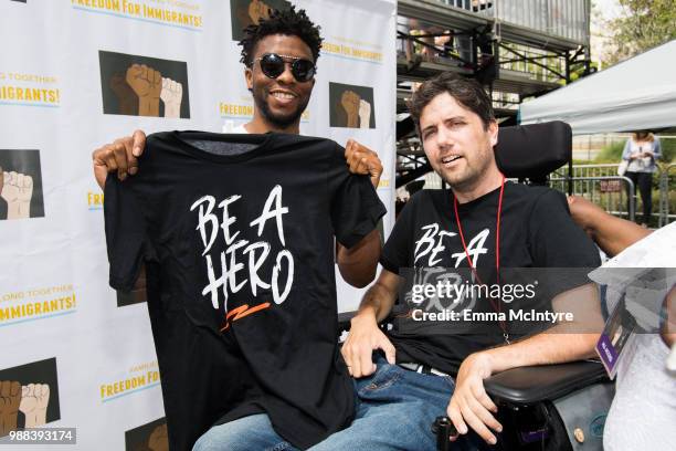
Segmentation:
{"type": "MultiPolygon", "coordinates": [[[[399,217],[382,252],[383,270],[342,346],[356,378],[356,419],[319,450],[434,449],[430,424],[444,415],[460,432],[457,449],[490,448],[504,424],[484,380],[510,368],[591,357],[602,324],[596,290],[584,275],[589,270],[579,270],[599,265],[596,248],[573,223],[562,193],[505,180],[493,150],[498,126],[483,88],[439,75],[415,92],[411,115],[432,168],[451,190],[421,191],[399,217]],[[439,329],[463,321],[420,322],[424,312],[412,308],[383,333],[379,323],[390,315],[401,285],[410,285],[402,275],[429,268],[464,273],[467,286],[498,289],[506,269],[561,269],[551,294],[562,293],[557,300],[563,297],[566,307],[556,311],[596,322],[596,333],[568,319],[547,333],[515,334],[509,317],[499,315],[507,305],[493,295],[475,300],[474,310],[485,315],[465,322],[462,333],[439,329]],[[374,350],[382,354],[376,361],[374,350]]],[[[521,304],[509,307],[519,311],[521,304]]]]}

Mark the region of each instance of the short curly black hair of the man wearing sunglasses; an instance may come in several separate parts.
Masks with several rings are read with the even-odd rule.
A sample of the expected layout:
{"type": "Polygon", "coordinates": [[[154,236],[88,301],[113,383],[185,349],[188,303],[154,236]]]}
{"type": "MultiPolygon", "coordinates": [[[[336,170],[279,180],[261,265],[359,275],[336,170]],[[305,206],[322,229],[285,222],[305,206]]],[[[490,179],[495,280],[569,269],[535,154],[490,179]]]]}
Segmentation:
{"type": "Polygon", "coordinates": [[[261,20],[257,25],[254,23],[244,29],[244,38],[239,43],[242,46],[240,62],[251,67],[258,41],[272,34],[285,34],[300,38],[313,52],[313,60],[316,63],[321,49],[320,29],[309,20],[305,10],[296,11],[293,6],[285,10],[271,10],[270,19],[261,20]]]}

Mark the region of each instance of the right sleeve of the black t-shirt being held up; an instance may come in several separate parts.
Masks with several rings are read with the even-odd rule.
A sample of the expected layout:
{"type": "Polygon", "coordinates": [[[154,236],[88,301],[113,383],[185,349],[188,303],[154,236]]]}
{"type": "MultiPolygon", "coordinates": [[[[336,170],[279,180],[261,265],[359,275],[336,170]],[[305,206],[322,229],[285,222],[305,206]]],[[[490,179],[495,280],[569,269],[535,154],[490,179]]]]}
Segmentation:
{"type": "Polygon", "coordinates": [[[387,210],[369,177],[349,172],[344,155],[345,149],[336,145],[328,183],[334,233],[349,249],[376,229],[387,210]]]}

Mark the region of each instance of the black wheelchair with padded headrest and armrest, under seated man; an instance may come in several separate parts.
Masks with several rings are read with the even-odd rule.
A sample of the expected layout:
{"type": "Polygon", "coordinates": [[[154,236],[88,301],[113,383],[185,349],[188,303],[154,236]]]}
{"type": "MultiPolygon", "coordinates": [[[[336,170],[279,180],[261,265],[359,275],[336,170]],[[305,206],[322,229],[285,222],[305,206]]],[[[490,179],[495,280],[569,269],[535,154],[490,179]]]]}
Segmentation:
{"type": "MultiPolygon", "coordinates": [[[[568,165],[570,192],[571,128],[562,122],[500,127],[496,159],[507,178],[532,185],[546,185],[552,171],[568,165]]],[[[339,315],[341,331],[349,329],[353,314],[339,315]]],[[[498,421],[504,427],[494,449],[603,450],[603,428],[614,384],[600,361],[514,368],[484,384],[498,406],[498,421]]],[[[448,423],[439,423],[440,420],[431,424],[440,432],[439,449],[452,450],[453,445],[444,440],[444,426],[448,423]]]]}

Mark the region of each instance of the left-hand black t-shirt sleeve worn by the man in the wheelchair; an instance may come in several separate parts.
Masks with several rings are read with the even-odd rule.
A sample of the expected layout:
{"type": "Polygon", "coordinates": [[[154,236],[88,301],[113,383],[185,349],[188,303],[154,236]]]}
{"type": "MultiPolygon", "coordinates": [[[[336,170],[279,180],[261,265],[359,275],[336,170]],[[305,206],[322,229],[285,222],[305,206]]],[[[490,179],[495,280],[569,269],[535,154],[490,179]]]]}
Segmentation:
{"type": "Polygon", "coordinates": [[[414,239],[412,234],[413,217],[415,203],[422,196],[422,192],[415,193],[404,206],[394,222],[392,232],[388,237],[382,253],[380,255],[380,264],[385,270],[399,274],[400,269],[413,266],[411,262],[411,245],[414,239]]]}

